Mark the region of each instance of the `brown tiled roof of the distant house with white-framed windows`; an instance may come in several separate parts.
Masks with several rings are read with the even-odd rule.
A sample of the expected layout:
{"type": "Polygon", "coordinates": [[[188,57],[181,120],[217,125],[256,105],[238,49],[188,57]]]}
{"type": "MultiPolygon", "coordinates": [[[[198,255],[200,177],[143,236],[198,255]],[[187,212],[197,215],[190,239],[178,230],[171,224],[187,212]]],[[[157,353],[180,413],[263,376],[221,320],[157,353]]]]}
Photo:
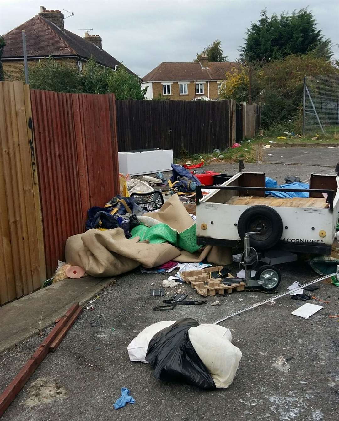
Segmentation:
{"type": "MultiPolygon", "coordinates": [[[[203,64],[203,62],[202,62],[203,64]]],[[[212,63],[203,64],[190,62],[163,62],[142,78],[143,82],[171,81],[171,80],[222,80],[225,72],[237,63],[212,63]]]]}

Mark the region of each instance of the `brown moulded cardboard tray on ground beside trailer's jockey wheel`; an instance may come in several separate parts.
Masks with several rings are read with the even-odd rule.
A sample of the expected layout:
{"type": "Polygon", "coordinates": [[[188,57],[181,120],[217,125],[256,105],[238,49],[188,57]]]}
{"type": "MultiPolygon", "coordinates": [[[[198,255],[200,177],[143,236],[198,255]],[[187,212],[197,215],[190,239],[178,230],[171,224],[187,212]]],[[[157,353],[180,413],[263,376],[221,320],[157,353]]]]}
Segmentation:
{"type": "Polygon", "coordinates": [[[224,285],[222,279],[211,279],[209,274],[223,269],[223,266],[208,267],[201,270],[191,270],[182,272],[181,277],[187,284],[190,284],[198,294],[203,297],[215,296],[216,294],[224,295],[230,294],[233,290],[243,291],[246,283],[240,282],[239,284],[224,285]]]}

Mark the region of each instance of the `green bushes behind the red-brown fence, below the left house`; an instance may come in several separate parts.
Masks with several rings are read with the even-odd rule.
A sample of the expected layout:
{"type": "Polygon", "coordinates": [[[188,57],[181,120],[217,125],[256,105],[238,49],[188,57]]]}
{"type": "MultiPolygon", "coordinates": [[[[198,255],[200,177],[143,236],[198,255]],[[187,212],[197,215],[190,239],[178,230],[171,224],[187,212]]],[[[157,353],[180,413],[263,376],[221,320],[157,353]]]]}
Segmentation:
{"type": "Polygon", "coordinates": [[[81,73],[74,66],[53,58],[41,60],[29,68],[29,84],[33,89],[73,93],[115,93],[116,99],[144,99],[147,88],[141,90],[138,77],[121,64],[117,70],[88,60],[81,73]]]}

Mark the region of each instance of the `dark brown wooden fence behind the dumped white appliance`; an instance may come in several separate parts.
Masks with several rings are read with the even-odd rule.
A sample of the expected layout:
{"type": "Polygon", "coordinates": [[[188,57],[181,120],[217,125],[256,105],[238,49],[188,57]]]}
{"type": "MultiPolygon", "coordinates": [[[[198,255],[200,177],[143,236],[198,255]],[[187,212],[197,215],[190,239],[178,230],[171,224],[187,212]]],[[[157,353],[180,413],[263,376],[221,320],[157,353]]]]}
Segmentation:
{"type": "Polygon", "coordinates": [[[182,149],[191,154],[235,143],[235,101],[116,101],[119,151],[182,149]]]}

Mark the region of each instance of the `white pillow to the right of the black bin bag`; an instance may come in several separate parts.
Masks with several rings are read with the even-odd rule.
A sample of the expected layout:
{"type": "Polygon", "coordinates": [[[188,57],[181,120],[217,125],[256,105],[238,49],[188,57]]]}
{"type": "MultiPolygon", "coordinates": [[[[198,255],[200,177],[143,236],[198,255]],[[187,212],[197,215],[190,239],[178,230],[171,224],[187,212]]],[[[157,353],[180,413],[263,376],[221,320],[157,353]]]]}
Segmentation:
{"type": "Polygon", "coordinates": [[[230,386],[243,355],[239,348],[232,345],[230,330],[206,323],[190,328],[188,336],[216,387],[230,386]]]}

